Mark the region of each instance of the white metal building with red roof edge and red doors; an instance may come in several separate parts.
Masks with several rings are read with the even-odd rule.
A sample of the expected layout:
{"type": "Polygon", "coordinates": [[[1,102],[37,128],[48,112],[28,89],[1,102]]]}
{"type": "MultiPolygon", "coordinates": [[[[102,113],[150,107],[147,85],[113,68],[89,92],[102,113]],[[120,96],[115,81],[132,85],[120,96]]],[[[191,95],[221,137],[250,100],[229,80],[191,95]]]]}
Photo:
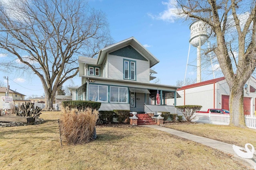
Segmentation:
{"type": "MultiPolygon", "coordinates": [[[[181,98],[177,106],[200,105],[201,110],[210,108],[229,110],[229,86],[224,77],[183,86],[177,90],[181,98]]],[[[254,115],[256,110],[256,79],[252,76],[244,86],[244,114],[254,115]]]]}

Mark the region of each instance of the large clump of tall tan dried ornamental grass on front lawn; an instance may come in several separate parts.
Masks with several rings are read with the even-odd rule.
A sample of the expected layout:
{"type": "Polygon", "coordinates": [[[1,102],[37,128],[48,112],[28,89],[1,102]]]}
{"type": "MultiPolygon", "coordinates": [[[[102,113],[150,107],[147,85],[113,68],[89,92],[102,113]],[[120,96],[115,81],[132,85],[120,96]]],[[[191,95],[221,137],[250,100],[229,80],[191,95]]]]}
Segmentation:
{"type": "Polygon", "coordinates": [[[68,144],[88,143],[93,136],[98,120],[98,110],[86,108],[83,110],[62,109],[60,117],[60,134],[68,144]]]}

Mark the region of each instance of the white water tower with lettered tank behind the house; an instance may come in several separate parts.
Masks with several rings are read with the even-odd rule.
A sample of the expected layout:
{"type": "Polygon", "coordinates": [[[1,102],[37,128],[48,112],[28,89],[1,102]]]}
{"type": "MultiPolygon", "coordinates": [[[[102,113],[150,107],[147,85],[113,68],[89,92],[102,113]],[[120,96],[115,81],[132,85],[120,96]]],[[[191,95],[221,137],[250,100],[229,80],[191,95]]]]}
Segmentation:
{"type": "Polygon", "coordinates": [[[204,45],[209,38],[207,35],[206,23],[196,21],[190,25],[190,40],[189,43],[197,47],[197,82],[201,82],[201,46],[204,45]]]}

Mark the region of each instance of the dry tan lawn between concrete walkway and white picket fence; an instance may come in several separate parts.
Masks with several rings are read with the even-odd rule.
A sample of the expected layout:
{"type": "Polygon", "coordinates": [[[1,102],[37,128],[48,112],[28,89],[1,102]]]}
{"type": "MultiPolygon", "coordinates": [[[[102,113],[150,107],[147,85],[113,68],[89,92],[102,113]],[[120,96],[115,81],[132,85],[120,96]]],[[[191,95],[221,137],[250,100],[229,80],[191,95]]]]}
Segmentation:
{"type": "Polygon", "coordinates": [[[244,147],[246,143],[251,143],[252,145],[256,146],[256,129],[203,123],[192,125],[167,125],[165,127],[241,147],[244,147]]]}

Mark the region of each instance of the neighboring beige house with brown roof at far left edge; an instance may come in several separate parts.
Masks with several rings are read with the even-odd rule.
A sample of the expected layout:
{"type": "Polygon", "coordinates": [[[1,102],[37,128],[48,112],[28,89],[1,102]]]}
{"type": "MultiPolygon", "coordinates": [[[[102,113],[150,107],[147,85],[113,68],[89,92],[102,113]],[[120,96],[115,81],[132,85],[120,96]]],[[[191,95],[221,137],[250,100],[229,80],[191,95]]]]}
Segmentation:
{"type": "MultiPolygon", "coordinates": [[[[25,103],[25,102],[29,102],[29,100],[25,100],[25,95],[24,94],[21,94],[19,92],[16,92],[14,90],[11,90],[9,88],[9,96],[12,96],[12,104],[13,105],[19,105],[19,104],[22,104],[22,103],[25,103]]],[[[0,96],[6,96],[7,94],[7,88],[6,87],[0,87],[0,96]]],[[[3,108],[3,103],[4,101],[1,100],[0,102],[0,109],[3,108]]]]}

